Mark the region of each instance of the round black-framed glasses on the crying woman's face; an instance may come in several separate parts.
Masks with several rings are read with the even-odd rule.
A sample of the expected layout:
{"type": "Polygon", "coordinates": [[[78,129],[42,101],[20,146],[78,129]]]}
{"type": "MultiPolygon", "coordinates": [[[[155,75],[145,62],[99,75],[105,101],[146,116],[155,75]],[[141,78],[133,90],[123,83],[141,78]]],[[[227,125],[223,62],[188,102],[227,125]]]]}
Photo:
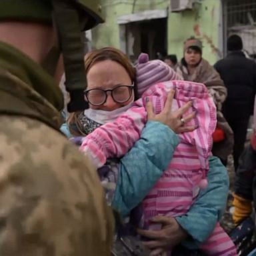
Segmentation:
{"type": "Polygon", "coordinates": [[[107,90],[100,88],[85,90],[85,100],[94,106],[103,105],[107,101],[107,92],[109,91],[113,101],[117,103],[124,103],[131,98],[133,88],[134,84],[117,85],[115,88],[107,90]]]}

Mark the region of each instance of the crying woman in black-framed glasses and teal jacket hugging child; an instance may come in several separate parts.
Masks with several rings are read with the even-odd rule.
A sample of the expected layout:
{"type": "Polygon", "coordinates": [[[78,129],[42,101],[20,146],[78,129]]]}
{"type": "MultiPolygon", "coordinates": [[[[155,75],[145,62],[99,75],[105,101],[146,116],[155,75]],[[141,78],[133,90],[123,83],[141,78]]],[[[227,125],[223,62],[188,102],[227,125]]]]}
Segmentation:
{"type": "MultiPolygon", "coordinates": [[[[85,99],[89,103],[89,109],[69,117],[71,133],[79,136],[88,135],[95,128],[115,120],[129,109],[133,105],[133,101],[137,99],[135,69],[127,57],[117,49],[105,48],[87,54],[85,66],[88,83],[85,99]]],[[[168,109],[164,109],[164,111],[168,111],[168,109]]],[[[107,199],[110,199],[110,202],[111,200],[115,201],[117,198],[116,191],[125,191],[122,200],[119,200],[121,213],[129,213],[133,207],[142,201],[162,175],[177,146],[177,135],[171,129],[167,129],[165,125],[154,121],[161,121],[160,117],[161,113],[151,116],[152,121],[147,122],[141,139],[119,162],[121,163],[119,170],[113,171],[112,168],[113,179],[108,179],[113,183],[117,181],[117,186],[112,193],[107,193],[107,199]],[[117,178],[115,174],[119,174],[117,178]],[[121,186],[126,186],[126,190],[120,189],[121,186]]],[[[171,119],[162,120],[177,133],[184,131],[180,117],[172,117],[171,119]]],[[[107,133],[107,131],[105,132],[107,133]]],[[[109,166],[113,167],[113,163],[110,163],[109,166]]],[[[105,171],[105,169],[101,171],[105,171]]],[[[225,170],[219,161],[211,159],[207,175],[209,181],[207,189],[199,194],[194,206],[187,215],[182,217],[182,227],[174,218],[170,217],[168,221],[165,220],[167,229],[161,234],[155,234],[155,244],[159,248],[168,245],[173,247],[186,239],[198,245],[211,233],[213,229],[211,225],[201,225],[199,228],[195,227],[193,223],[197,223],[198,219],[201,220],[201,223],[209,223],[210,219],[217,219],[219,210],[223,207],[220,203],[223,201],[221,197],[223,194],[225,195],[225,189],[219,187],[217,177],[221,175],[222,179],[224,172],[225,170]],[[219,199],[215,200],[216,203],[211,201],[213,193],[215,198],[219,199]],[[209,205],[211,209],[209,209],[209,205]],[[159,243],[158,239],[160,241],[161,237],[164,239],[159,243]]]]}

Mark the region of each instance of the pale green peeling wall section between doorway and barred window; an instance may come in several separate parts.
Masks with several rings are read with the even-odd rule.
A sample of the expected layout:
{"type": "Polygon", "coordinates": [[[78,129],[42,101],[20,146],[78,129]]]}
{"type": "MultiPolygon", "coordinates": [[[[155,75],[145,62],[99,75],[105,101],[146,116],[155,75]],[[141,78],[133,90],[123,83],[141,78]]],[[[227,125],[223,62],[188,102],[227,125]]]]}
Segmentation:
{"type": "Polygon", "coordinates": [[[214,64],[221,51],[219,45],[219,26],[221,1],[203,0],[193,11],[169,13],[168,52],[176,53],[178,59],[183,57],[183,42],[190,36],[203,41],[203,57],[214,64]]]}

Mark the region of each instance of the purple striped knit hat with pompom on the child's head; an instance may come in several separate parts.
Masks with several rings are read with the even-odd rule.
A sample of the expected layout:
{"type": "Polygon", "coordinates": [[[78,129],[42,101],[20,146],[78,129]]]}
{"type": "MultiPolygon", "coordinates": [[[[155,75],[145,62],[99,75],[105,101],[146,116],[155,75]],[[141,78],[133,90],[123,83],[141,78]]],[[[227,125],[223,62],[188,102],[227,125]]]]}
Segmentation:
{"type": "Polygon", "coordinates": [[[138,63],[135,66],[137,72],[137,86],[139,97],[156,83],[181,80],[171,67],[159,59],[149,61],[147,53],[141,53],[138,58],[138,63]]]}

